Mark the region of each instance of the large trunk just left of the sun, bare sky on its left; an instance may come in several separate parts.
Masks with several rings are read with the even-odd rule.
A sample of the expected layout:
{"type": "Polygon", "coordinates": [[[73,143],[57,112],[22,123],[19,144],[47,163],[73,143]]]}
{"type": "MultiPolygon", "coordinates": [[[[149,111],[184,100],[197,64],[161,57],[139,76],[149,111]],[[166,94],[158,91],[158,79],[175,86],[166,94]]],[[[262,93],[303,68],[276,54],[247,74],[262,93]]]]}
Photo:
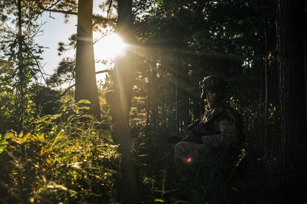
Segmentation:
{"type": "Polygon", "coordinates": [[[91,114],[100,119],[95,65],[92,61],[92,13],[93,1],[79,0],[75,98],[77,102],[81,99],[89,100],[91,114]]]}

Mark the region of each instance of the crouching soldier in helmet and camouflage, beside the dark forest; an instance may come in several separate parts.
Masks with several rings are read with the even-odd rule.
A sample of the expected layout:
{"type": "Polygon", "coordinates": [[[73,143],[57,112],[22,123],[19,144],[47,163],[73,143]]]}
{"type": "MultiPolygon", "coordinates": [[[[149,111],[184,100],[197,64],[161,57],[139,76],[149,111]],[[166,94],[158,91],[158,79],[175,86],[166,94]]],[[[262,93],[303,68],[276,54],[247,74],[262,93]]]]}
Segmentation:
{"type": "Polygon", "coordinates": [[[206,98],[208,106],[202,121],[207,121],[220,108],[224,109],[222,117],[208,124],[202,135],[193,136],[188,142],[179,142],[175,146],[175,161],[178,173],[182,173],[185,164],[197,161],[214,161],[219,164],[218,150],[237,145],[236,110],[229,102],[223,101],[229,89],[227,81],[222,77],[208,76],[200,82],[201,98],[206,98]]]}

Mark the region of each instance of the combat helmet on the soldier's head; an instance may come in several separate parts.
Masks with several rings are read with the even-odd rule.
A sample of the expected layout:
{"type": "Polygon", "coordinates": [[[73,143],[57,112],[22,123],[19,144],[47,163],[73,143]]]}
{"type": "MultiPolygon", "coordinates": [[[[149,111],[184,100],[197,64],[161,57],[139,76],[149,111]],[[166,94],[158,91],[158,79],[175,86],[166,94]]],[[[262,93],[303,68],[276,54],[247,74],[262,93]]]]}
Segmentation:
{"type": "Polygon", "coordinates": [[[207,94],[207,89],[221,89],[221,100],[226,98],[229,89],[228,82],[223,78],[215,75],[210,75],[199,82],[199,88],[202,89],[201,98],[205,98],[204,93],[207,94]]]}

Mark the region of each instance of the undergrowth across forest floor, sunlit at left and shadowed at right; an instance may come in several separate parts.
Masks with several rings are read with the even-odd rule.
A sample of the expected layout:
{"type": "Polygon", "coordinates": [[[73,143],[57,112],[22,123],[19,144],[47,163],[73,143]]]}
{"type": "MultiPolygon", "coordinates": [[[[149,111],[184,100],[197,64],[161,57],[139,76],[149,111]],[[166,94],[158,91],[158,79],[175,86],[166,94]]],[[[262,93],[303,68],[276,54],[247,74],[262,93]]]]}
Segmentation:
{"type": "MultiPolygon", "coordinates": [[[[62,102],[66,105],[61,109],[66,107],[68,113],[80,106],[68,98],[62,102]]],[[[36,121],[35,133],[2,135],[1,190],[7,193],[1,202],[129,203],[118,198],[122,163],[118,146],[112,145],[111,121],[104,121],[109,129],[103,130],[94,118],[80,122],[76,115],[71,117],[75,121],[55,124],[60,116],[52,117],[52,128],[52,123],[36,121]]],[[[178,174],[173,155],[162,160],[174,144],[142,126],[131,129],[131,134],[138,203],[274,203],[276,183],[270,180],[277,176],[276,159],[265,162],[257,150],[247,148],[243,153],[249,165],[240,180],[210,162],[189,162],[178,174]]]]}

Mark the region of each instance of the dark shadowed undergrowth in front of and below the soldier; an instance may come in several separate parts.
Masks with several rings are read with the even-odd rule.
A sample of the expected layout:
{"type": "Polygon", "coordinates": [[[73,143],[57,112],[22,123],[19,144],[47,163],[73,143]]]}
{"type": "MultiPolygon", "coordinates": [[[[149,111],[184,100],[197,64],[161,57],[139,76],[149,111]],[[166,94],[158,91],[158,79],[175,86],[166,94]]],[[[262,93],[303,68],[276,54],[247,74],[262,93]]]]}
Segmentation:
{"type": "MultiPolygon", "coordinates": [[[[259,150],[243,151],[247,168],[235,176],[210,162],[189,162],[183,174],[178,174],[174,155],[162,160],[174,144],[165,135],[154,136],[146,128],[138,128],[132,141],[136,170],[146,192],[147,203],[275,203],[278,159],[269,161],[259,150]],[[258,153],[257,153],[258,152],[258,153]]],[[[248,143],[243,144],[248,147],[248,143]]],[[[242,157],[237,157],[237,162],[242,157]]],[[[235,167],[234,162],[233,167],[235,167]]]]}

